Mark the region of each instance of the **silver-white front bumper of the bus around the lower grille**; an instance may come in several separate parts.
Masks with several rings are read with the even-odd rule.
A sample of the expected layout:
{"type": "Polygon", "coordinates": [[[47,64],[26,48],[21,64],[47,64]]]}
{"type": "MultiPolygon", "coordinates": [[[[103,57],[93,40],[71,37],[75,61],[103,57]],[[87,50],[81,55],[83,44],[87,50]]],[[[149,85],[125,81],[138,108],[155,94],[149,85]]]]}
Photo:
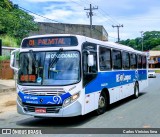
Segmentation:
{"type": "MultiPolygon", "coordinates": [[[[39,108],[41,108],[41,106],[39,106],[39,108]]],[[[27,111],[25,106],[22,106],[17,100],[17,112],[19,114],[31,115],[35,117],[72,117],[82,115],[82,106],[78,101],[75,101],[66,107],[62,107],[56,113],[36,113],[27,111]]]]}

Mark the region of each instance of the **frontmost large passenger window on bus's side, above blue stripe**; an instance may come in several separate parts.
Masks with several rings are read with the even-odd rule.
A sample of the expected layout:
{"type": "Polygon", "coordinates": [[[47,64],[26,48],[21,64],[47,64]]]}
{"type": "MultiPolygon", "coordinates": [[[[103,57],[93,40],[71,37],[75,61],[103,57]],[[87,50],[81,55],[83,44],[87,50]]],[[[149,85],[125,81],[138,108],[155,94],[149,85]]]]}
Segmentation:
{"type": "Polygon", "coordinates": [[[111,69],[111,50],[100,47],[99,48],[99,66],[101,71],[111,69]]]}

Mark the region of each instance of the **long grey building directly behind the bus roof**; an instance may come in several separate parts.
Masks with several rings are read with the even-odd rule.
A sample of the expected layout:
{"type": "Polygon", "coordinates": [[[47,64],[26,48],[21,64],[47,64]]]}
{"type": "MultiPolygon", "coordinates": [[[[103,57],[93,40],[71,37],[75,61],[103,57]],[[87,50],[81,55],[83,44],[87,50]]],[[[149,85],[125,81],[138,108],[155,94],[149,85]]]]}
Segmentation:
{"type": "Polygon", "coordinates": [[[77,34],[108,41],[108,33],[101,25],[93,25],[92,34],[90,33],[90,25],[47,22],[38,22],[38,25],[39,30],[30,32],[30,36],[43,34],[77,34]]]}

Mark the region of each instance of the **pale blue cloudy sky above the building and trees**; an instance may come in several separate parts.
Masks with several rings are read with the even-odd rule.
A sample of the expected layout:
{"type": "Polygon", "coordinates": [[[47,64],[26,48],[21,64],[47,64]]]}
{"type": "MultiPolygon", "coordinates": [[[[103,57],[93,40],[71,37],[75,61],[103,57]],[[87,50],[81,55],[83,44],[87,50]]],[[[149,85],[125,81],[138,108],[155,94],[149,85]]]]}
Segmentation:
{"type": "Polygon", "coordinates": [[[141,32],[160,31],[160,0],[11,0],[13,4],[33,13],[52,19],[47,20],[33,13],[35,21],[69,24],[90,24],[87,10],[93,10],[93,25],[103,25],[109,41],[117,41],[117,28],[120,40],[141,37],[141,32]]]}

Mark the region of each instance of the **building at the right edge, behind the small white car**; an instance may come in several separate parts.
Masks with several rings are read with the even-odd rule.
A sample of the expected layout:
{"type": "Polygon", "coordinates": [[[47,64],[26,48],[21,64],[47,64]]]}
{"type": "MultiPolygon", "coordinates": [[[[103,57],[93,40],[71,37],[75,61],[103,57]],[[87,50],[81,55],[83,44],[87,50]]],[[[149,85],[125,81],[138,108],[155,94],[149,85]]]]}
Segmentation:
{"type": "Polygon", "coordinates": [[[160,68],[160,51],[149,51],[149,68],[160,68]]]}

